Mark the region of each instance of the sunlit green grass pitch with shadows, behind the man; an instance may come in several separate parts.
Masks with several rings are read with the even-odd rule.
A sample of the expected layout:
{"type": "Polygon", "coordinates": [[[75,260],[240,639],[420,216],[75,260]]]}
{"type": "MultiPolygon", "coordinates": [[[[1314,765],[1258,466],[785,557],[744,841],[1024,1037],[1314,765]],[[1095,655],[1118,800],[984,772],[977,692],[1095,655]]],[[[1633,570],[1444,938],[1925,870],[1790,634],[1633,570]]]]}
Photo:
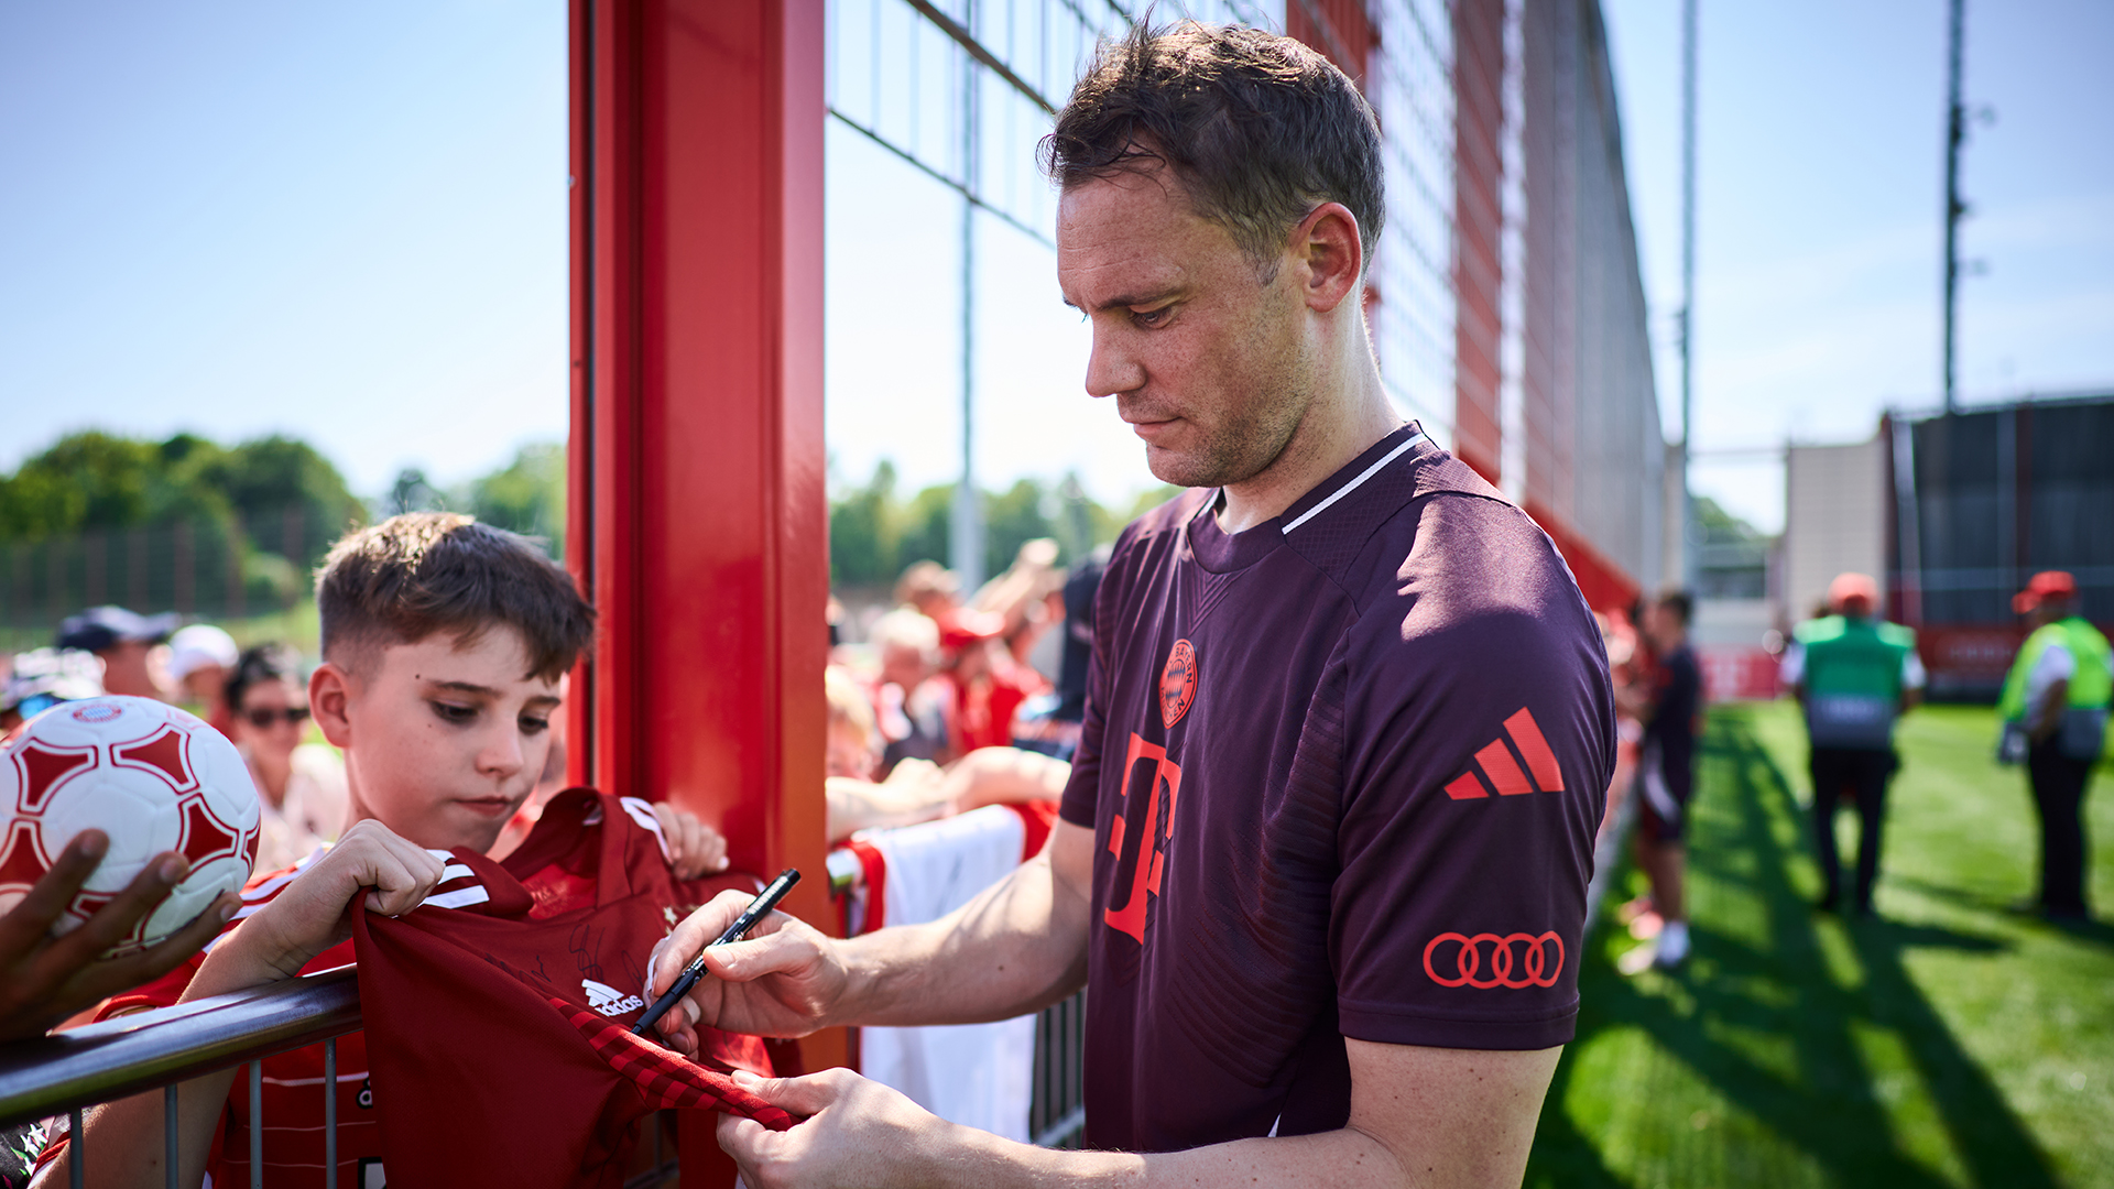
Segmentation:
{"type": "MultiPolygon", "coordinates": [[[[1877,918],[1841,920],[1810,908],[1797,711],[1714,709],[1689,825],[1693,958],[1617,973],[1638,941],[1602,912],[1526,1183],[2114,1185],[2114,927],[2010,910],[2034,891],[2038,827],[1994,740],[1981,707],[1903,721],[1877,918]]],[[[2108,764],[2087,823],[2089,895],[2110,918],[2108,764]]],[[[1848,861],[1856,817],[1837,829],[1848,861]]],[[[1638,891],[1624,872],[1607,908],[1638,891]]]]}

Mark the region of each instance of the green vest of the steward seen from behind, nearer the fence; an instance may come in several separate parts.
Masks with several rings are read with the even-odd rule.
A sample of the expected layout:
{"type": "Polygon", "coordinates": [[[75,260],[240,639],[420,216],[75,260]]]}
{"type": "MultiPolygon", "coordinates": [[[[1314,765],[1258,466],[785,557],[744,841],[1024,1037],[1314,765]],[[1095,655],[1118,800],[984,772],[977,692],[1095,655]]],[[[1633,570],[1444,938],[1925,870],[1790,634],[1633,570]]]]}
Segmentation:
{"type": "Polygon", "coordinates": [[[1826,616],[1791,630],[1805,650],[1805,734],[1814,747],[1886,749],[1900,717],[1900,666],[1915,633],[1886,620],[1826,616]]]}

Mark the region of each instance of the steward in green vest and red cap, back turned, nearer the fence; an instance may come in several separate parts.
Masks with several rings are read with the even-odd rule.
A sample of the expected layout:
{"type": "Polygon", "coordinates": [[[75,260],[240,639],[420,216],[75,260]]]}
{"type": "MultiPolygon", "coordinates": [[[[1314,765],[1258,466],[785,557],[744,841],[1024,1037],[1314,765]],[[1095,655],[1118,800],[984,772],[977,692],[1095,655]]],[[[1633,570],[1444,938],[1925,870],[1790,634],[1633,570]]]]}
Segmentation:
{"type": "Polygon", "coordinates": [[[1793,630],[1780,675],[1805,709],[1812,743],[1814,855],[1820,859],[1820,910],[1841,897],[1841,861],[1835,857],[1835,806],[1848,789],[1856,802],[1856,899],[1852,912],[1871,914],[1871,886],[1879,876],[1879,831],[1886,823],[1886,783],[1900,768],[1894,719],[1924,698],[1924,662],[1915,633],[1877,620],[1879,584],[1865,573],[1839,573],[1829,584],[1831,616],[1793,630]]]}

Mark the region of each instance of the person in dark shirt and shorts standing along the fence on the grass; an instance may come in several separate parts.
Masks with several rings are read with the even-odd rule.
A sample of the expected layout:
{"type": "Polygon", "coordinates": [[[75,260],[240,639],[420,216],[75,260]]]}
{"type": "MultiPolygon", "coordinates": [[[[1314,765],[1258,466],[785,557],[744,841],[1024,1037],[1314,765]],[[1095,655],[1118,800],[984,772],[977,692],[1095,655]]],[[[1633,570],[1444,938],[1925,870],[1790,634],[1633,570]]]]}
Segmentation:
{"type": "MultiPolygon", "coordinates": [[[[1689,618],[1695,603],[1687,590],[1653,599],[1645,607],[1645,639],[1651,643],[1655,679],[1649,690],[1617,690],[1617,705],[1645,724],[1645,747],[1636,768],[1636,865],[1651,880],[1649,914],[1657,916],[1657,946],[1651,963],[1679,967],[1689,956],[1689,912],[1683,899],[1689,795],[1695,791],[1695,738],[1702,734],[1702,669],[1689,647],[1689,618]]],[[[1645,920],[1640,903],[1624,912],[1645,920]]],[[[1638,933],[1651,933],[1645,925],[1638,933]]]]}

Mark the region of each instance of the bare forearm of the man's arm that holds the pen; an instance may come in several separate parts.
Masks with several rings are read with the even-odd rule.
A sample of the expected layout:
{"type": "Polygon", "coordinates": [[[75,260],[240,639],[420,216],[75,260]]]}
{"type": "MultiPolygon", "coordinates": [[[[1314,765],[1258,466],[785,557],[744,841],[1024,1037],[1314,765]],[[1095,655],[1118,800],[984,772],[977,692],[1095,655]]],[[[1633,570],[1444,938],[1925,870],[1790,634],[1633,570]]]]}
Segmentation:
{"type": "Polygon", "coordinates": [[[930,925],[841,941],[835,1024],[1010,1020],[1087,984],[1087,901],[1044,853],[930,925]]]}

